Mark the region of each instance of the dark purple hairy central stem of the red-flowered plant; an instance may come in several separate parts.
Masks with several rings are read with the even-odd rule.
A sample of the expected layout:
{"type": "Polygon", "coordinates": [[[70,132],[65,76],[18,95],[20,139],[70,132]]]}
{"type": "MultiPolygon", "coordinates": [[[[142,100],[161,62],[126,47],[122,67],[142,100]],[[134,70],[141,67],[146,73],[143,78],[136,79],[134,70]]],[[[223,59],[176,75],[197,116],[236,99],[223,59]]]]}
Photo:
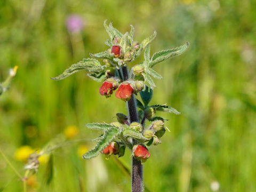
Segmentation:
{"type": "MultiPolygon", "coordinates": [[[[122,67],[124,81],[129,77],[126,67],[122,67]]],[[[127,101],[127,106],[129,109],[130,122],[139,122],[136,99],[134,94],[132,98],[127,101]]],[[[132,158],[132,192],[142,192],[143,191],[143,166],[140,161],[136,158],[132,158]]]]}

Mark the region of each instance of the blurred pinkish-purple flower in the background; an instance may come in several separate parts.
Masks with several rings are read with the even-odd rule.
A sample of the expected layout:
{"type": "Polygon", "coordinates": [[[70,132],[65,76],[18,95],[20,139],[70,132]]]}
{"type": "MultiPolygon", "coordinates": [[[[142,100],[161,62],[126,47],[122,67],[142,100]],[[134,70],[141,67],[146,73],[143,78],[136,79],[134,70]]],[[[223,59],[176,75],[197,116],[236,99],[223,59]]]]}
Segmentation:
{"type": "Polygon", "coordinates": [[[69,15],[67,18],[67,28],[70,33],[81,31],[83,27],[83,19],[79,15],[69,15]]]}

